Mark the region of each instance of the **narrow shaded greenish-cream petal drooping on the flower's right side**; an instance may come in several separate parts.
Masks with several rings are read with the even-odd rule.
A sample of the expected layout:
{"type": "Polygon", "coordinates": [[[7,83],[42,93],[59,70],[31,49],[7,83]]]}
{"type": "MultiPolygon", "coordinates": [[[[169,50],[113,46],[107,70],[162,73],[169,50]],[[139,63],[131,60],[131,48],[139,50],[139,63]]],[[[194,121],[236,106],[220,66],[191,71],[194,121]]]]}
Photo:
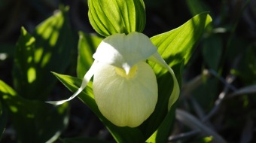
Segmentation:
{"type": "Polygon", "coordinates": [[[168,103],[168,111],[171,109],[172,105],[177,101],[180,89],[178,85],[177,78],[175,77],[175,73],[172,71],[172,68],[169,67],[169,65],[164,61],[164,59],[160,56],[158,52],[154,53],[154,55],[150,56],[148,60],[151,60],[153,62],[157,62],[157,64],[163,66],[164,68],[167,68],[169,73],[171,73],[172,78],[173,78],[173,90],[172,94],[169,98],[169,103],[168,103]]]}

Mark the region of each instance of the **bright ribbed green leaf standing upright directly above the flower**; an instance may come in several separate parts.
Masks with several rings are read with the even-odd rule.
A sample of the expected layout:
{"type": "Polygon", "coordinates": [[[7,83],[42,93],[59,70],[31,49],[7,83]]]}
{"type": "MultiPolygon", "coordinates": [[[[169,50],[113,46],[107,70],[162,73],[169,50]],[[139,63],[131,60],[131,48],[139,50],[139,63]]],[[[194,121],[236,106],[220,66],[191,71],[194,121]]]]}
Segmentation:
{"type": "Polygon", "coordinates": [[[145,23],[143,0],[89,0],[89,20],[100,35],[142,32],[145,23]]]}

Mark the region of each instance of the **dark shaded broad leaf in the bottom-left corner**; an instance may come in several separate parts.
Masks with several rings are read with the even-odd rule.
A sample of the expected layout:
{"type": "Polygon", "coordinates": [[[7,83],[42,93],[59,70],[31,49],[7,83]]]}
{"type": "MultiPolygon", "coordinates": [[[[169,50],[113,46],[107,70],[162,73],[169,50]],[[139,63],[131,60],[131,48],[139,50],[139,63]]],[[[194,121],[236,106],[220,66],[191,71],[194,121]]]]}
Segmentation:
{"type": "Polygon", "coordinates": [[[69,121],[67,104],[53,107],[23,99],[3,81],[0,81],[0,97],[8,105],[8,115],[19,142],[53,142],[69,121]]]}

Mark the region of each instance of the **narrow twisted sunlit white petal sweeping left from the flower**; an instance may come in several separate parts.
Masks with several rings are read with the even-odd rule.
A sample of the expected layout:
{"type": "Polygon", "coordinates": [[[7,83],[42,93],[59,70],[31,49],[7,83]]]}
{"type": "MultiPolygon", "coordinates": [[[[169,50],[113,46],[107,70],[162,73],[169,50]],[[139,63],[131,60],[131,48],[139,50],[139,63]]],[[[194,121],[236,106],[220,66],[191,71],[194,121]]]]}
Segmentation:
{"type": "Polygon", "coordinates": [[[53,101],[53,102],[47,102],[47,103],[50,103],[52,105],[61,105],[61,104],[65,103],[65,102],[68,102],[68,101],[74,99],[87,86],[88,82],[90,81],[90,78],[93,77],[94,72],[95,72],[97,66],[98,66],[98,63],[97,62],[93,62],[93,65],[90,67],[90,69],[84,75],[84,79],[82,81],[81,87],[79,87],[79,89],[71,97],[69,97],[69,99],[53,101]]]}

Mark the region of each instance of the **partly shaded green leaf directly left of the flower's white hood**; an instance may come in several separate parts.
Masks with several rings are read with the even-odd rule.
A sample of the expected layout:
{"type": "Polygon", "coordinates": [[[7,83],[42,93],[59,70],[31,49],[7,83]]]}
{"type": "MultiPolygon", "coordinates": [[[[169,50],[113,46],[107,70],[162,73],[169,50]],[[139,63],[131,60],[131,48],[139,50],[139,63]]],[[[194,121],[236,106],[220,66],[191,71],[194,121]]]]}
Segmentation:
{"type": "Polygon", "coordinates": [[[88,35],[84,32],[79,32],[77,65],[78,78],[84,78],[85,73],[93,64],[93,53],[95,53],[96,48],[102,40],[103,38],[99,38],[96,35],[88,35]]]}

